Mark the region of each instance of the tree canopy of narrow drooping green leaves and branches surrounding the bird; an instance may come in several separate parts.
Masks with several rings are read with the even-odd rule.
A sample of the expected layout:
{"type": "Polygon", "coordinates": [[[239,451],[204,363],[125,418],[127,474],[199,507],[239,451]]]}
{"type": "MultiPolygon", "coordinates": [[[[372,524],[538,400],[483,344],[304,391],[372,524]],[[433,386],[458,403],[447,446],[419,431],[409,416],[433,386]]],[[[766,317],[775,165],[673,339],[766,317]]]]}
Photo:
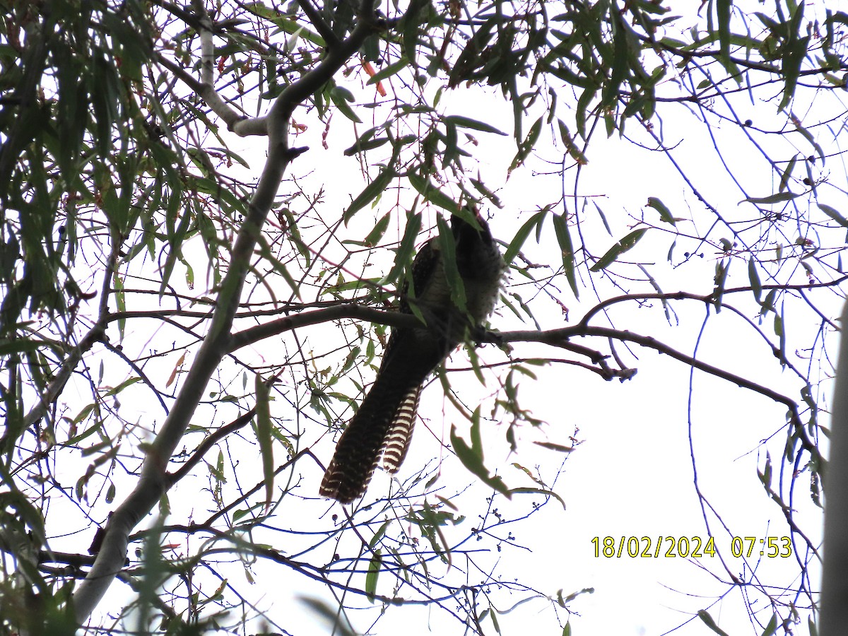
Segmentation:
{"type": "Polygon", "coordinates": [[[848,14],[677,4],[0,0],[3,629],[483,634],[532,606],[580,633],[589,583],[522,555],[592,550],[533,532],[585,521],[569,466],[622,395],[642,421],[632,390],[688,449],[667,506],[715,538],[679,624],[812,632],[848,14]],[[466,205],[499,309],[399,476],[331,505],[332,443],[418,324],[397,290],[466,205]]]}

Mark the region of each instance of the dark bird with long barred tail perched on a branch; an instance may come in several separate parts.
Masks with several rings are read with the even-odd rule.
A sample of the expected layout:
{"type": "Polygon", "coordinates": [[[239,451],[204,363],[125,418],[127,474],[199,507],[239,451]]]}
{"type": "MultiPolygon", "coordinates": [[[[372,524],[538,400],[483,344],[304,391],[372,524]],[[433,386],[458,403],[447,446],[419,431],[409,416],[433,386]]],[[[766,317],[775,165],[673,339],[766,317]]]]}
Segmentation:
{"type": "Polygon", "coordinates": [[[427,325],[393,328],[377,377],[338,439],[321,481],[321,496],[352,503],[365,494],[381,457],[384,470],[399,470],[423,382],[494,310],[504,259],[486,221],[476,211],[468,216],[473,222],[464,215],[451,216],[454,259],[444,257],[438,237],[424,243],[413,259],[407,276],[411,289],[409,282],[404,284],[399,310],[411,314],[415,304],[427,325]],[[452,274],[459,274],[462,282],[464,309],[455,302],[452,274]]]}

